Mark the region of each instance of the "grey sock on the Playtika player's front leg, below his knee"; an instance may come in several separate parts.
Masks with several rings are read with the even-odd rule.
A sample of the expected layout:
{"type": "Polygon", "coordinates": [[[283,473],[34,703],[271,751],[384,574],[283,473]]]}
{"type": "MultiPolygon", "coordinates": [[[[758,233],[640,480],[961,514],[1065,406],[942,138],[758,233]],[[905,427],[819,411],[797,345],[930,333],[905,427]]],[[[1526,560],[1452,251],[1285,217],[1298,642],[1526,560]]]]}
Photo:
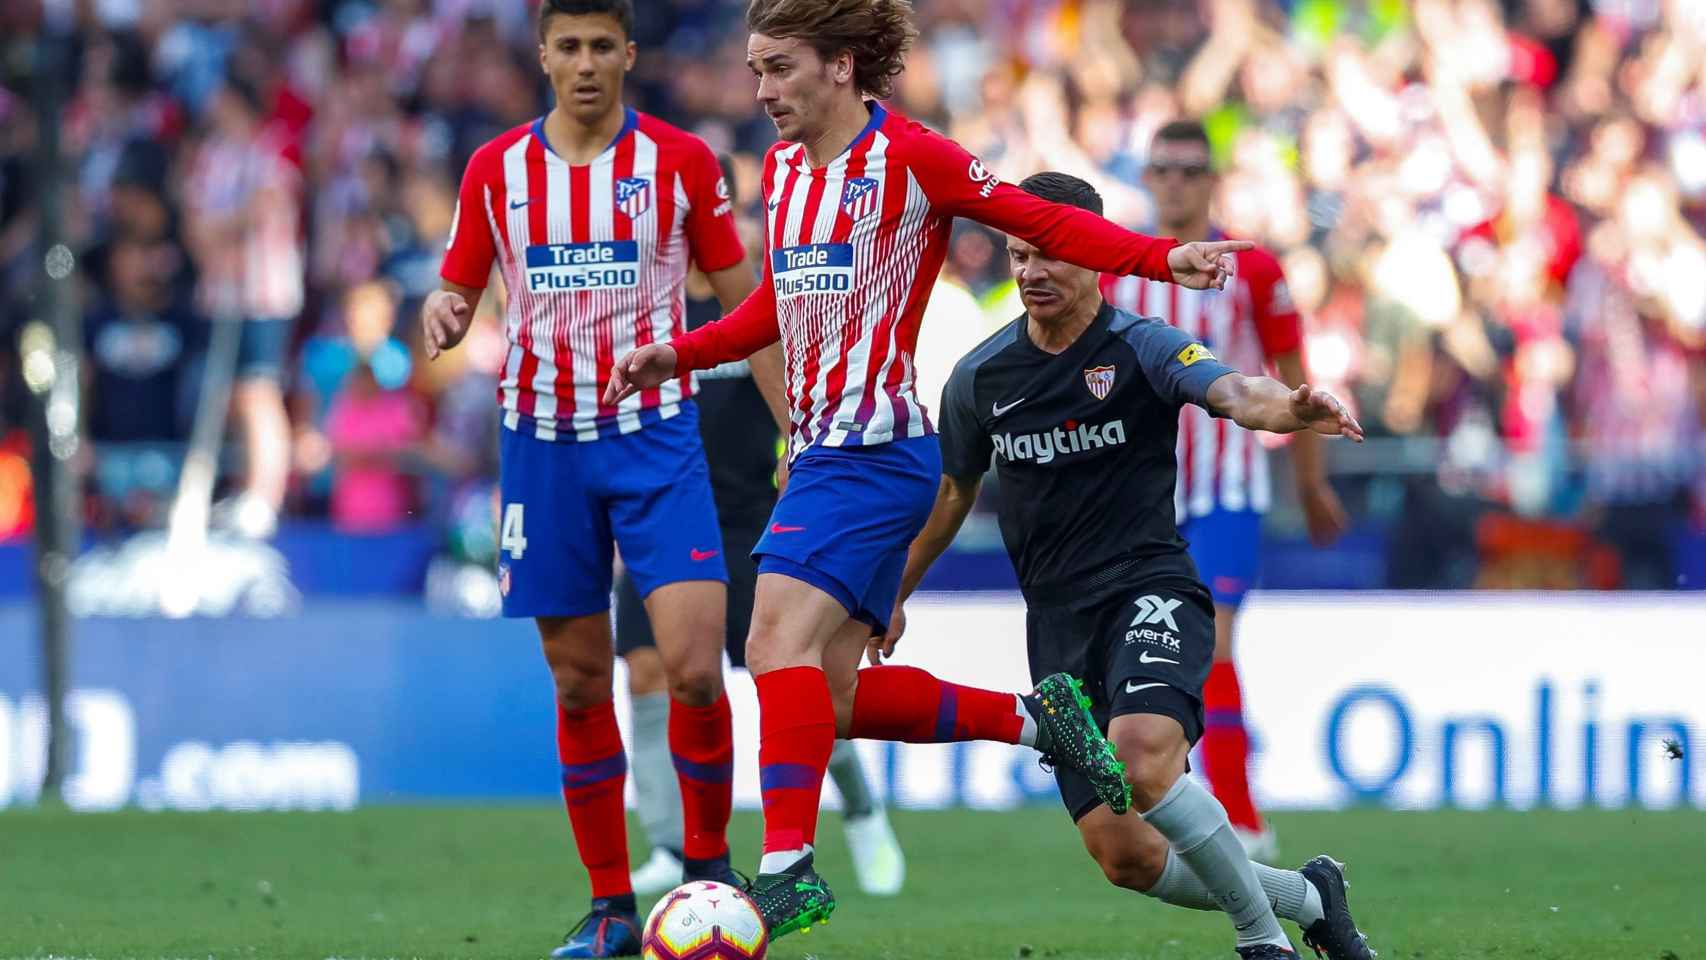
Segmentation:
{"type": "MultiPolygon", "coordinates": [[[[1254,865],[1227,822],[1227,808],[1215,795],[1189,776],[1181,776],[1143,818],[1167,837],[1179,859],[1203,880],[1210,899],[1232,916],[1239,946],[1274,943],[1291,948],[1256,878],[1254,865]]],[[[1162,876],[1165,878],[1165,871],[1162,876]]]]}

